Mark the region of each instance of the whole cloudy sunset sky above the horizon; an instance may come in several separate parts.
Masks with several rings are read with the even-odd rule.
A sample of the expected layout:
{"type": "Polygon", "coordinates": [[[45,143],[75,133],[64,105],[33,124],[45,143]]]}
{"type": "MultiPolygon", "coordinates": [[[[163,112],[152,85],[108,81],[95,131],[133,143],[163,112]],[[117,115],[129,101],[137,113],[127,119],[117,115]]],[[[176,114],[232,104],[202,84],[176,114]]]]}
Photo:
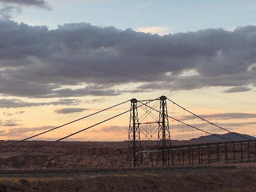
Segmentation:
{"type": "MultiPolygon", "coordinates": [[[[161,95],[256,136],[255,18],[255,1],[0,0],[0,140],[161,95]]],[[[167,104],[172,116],[224,133],[167,104]]],[[[33,139],[57,140],[129,109],[33,139]]],[[[67,140],[124,141],[128,127],[125,113],[67,140]]],[[[203,135],[172,120],[170,129],[173,140],[203,135]]]]}

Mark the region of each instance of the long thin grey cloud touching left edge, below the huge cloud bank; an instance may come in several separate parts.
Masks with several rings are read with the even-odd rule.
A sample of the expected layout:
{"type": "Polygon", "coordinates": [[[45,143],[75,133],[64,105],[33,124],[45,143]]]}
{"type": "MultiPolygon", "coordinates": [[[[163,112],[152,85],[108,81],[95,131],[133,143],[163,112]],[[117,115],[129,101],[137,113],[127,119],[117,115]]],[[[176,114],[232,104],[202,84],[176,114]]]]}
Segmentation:
{"type": "MultiPolygon", "coordinates": [[[[77,100],[77,99],[60,99],[58,101],[52,101],[52,102],[24,102],[20,99],[0,99],[0,108],[28,108],[28,107],[49,106],[49,105],[76,106],[80,102],[81,100],[77,100]]],[[[19,111],[17,113],[24,113],[24,111],[19,111]]]]}

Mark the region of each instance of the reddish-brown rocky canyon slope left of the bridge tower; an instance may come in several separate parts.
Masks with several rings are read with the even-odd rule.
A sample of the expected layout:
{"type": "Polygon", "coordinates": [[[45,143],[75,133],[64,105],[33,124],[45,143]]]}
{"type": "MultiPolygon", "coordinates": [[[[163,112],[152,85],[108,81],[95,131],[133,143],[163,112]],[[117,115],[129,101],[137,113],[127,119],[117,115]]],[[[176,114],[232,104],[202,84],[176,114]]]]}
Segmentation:
{"type": "Polygon", "coordinates": [[[1,170],[127,166],[127,142],[14,142],[0,143],[1,170]]]}

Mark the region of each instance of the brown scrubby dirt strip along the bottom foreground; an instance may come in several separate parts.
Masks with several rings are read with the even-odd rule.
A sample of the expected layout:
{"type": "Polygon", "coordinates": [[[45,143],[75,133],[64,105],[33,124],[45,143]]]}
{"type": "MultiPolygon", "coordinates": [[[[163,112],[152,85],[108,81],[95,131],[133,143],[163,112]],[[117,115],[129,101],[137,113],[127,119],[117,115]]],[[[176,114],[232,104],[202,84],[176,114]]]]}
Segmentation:
{"type": "Polygon", "coordinates": [[[0,191],[256,191],[255,170],[0,179],[0,191]]]}

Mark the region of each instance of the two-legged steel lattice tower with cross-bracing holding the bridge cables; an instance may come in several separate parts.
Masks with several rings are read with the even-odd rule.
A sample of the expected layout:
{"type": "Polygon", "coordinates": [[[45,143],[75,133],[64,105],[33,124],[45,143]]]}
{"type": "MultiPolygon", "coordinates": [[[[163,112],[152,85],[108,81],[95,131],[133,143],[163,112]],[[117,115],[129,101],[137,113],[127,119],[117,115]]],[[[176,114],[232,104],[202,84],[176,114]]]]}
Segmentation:
{"type": "MultiPolygon", "coordinates": [[[[155,166],[169,166],[170,165],[170,150],[171,150],[171,138],[170,138],[170,129],[169,129],[169,122],[168,122],[168,113],[167,113],[167,104],[166,104],[166,97],[161,96],[158,99],[159,103],[154,106],[160,106],[160,110],[157,112],[158,117],[156,116],[156,122],[150,122],[148,124],[156,124],[157,130],[156,130],[156,159],[153,160],[152,157],[152,166],[155,164],[155,166]],[[158,118],[158,120],[157,120],[158,118]]],[[[145,100],[144,100],[145,101],[145,100]]],[[[146,100],[148,102],[148,100],[146,100]]],[[[148,150],[148,146],[146,143],[148,142],[148,138],[152,132],[155,131],[147,131],[147,129],[144,129],[141,127],[141,125],[145,124],[144,122],[140,122],[138,118],[138,106],[137,102],[141,102],[140,100],[131,99],[131,113],[130,113],[130,124],[129,124],[129,140],[128,140],[128,162],[132,166],[143,166],[143,162],[147,161],[147,157],[145,157],[145,150],[148,150]],[[140,130],[141,127],[141,130],[140,130]],[[142,131],[142,132],[141,132],[142,131]],[[140,134],[143,134],[145,136],[144,139],[141,140],[140,134]],[[145,140],[146,139],[146,140],[145,140]],[[143,143],[141,143],[143,142],[143,143]],[[142,146],[143,145],[143,146],[142,146]]],[[[147,104],[145,104],[147,106],[147,104]]],[[[143,108],[145,113],[147,115],[152,115],[152,111],[154,111],[154,108],[148,107],[143,108]]],[[[142,118],[145,119],[145,116],[142,118]]],[[[152,136],[152,135],[151,135],[152,136]]]]}

